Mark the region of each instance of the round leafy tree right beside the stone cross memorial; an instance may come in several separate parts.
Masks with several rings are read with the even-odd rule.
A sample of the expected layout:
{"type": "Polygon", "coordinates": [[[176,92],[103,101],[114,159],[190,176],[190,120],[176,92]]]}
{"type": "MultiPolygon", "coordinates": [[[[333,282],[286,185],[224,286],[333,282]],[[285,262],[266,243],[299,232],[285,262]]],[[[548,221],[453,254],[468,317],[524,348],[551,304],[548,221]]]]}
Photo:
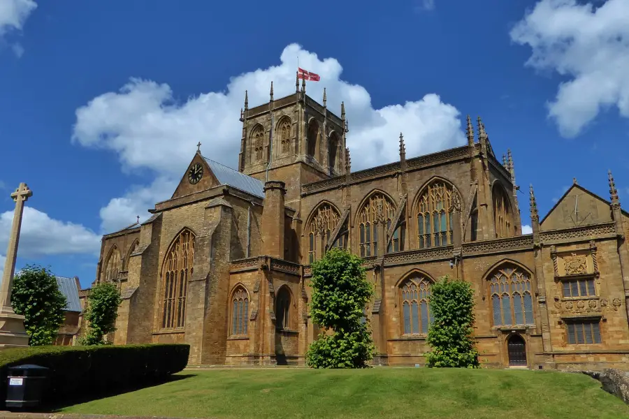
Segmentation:
{"type": "Polygon", "coordinates": [[[66,297],[45,267],[27,265],[13,278],[11,305],[24,316],[30,346],[51,345],[64,323],[66,297]]]}

